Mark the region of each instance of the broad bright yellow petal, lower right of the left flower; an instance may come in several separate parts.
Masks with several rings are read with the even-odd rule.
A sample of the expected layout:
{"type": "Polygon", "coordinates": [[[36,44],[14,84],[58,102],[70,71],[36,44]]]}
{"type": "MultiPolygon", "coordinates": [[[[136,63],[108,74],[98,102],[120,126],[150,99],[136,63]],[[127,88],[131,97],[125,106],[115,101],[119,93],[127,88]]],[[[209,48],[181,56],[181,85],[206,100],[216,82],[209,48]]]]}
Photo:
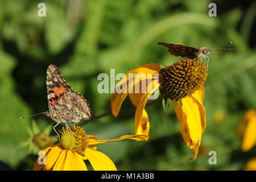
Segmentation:
{"type": "Polygon", "coordinates": [[[84,154],[95,171],[117,171],[112,160],[102,152],[86,148],[84,154]]]}

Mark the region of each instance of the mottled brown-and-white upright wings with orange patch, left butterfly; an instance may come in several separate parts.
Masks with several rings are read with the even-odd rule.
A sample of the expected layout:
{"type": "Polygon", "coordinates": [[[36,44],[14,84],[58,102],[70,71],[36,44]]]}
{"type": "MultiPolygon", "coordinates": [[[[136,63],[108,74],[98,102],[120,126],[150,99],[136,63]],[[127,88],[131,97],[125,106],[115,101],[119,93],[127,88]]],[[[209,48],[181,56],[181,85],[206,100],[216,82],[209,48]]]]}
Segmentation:
{"type": "Polygon", "coordinates": [[[59,68],[49,65],[46,76],[49,117],[56,122],[79,122],[92,116],[85,98],[74,92],[64,80],[59,68]]]}

